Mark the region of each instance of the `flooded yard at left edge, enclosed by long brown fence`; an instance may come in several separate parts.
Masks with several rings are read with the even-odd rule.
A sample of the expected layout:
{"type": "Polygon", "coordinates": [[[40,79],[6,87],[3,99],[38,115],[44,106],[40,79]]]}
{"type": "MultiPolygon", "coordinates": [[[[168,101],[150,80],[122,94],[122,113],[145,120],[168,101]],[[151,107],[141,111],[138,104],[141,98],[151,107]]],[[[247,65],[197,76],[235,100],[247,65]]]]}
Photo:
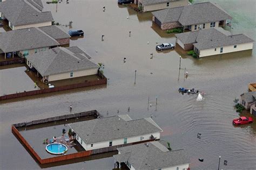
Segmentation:
{"type": "MultiPolygon", "coordinates": [[[[2,67],[2,66],[1,66],[2,67]]],[[[0,69],[0,95],[36,90],[35,83],[25,73],[26,67],[0,69]]]]}

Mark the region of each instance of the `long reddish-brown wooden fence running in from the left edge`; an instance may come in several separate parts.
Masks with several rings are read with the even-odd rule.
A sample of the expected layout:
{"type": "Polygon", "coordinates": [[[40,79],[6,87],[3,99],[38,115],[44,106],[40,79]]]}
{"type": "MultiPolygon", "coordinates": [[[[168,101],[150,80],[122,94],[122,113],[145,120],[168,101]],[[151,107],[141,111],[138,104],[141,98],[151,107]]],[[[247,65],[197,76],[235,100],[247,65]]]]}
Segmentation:
{"type": "Polygon", "coordinates": [[[38,95],[38,94],[52,93],[52,92],[55,92],[55,91],[70,90],[70,89],[76,89],[76,88],[81,88],[81,87],[89,87],[89,86],[96,86],[96,85],[100,85],[100,84],[106,84],[107,83],[106,77],[103,74],[101,74],[100,72],[98,73],[98,75],[102,79],[94,80],[94,81],[87,81],[87,82],[77,83],[77,84],[70,84],[70,85],[65,85],[65,86],[60,86],[60,87],[53,87],[53,88],[49,88],[49,89],[24,91],[22,93],[4,95],[4,96],[0,96],[0,101],[1,100],[8,100],[8,99],[11,99],[11,98],[32,96],[32,95],[38,95]]]}

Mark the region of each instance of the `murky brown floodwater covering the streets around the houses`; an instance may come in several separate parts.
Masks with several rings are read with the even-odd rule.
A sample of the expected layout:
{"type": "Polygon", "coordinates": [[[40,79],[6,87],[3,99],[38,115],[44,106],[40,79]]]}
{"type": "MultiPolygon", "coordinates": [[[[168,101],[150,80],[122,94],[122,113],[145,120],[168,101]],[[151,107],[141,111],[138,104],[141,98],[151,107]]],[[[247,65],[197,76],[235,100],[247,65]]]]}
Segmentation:
{"type": "MultiPolygon", "coordinates": [[[[248,116],[235,112],[233,100],[248,90],[248,83],[256,81],[255,49],[201,59],[187,56],[178,48],[156,52],[156,42],[174,43],[175,39],[152,25],[150,12],[136,13],[117,5],[116,0],[72,0],[69,4],[63,1],[56,12],[56,5],[45,4],[45,1],[45,9],[52,11],[53,18],[64,25],[64,30],[69,30],[65,25],[72,21],[72,29],[85,32],[83,38],[71,40],[70,46],[83,47],[95,61],[104,63],[109,82],[106,88],[64,91],[58,95],[2,103],[0,169],[42,168],[11,133],[11,124],[69,114],[70,104],[75,112],[96,109],[103,116],[107,116],[107,111],[109,116],[117,115],[117,110],[134,119],[153,115],[164,130],[161,139],[169,141],[172,149],[187,150],[191,169],[217,169],[219,155],[220,169],[256,169],[256,121],[239,127],[232,125],[232,119],[248,116]],[[106,6],[105,12],[103,6],[106,6]],[[151,53],[153,59],[150,59],[151,53]],[[183,76],[185,68],[188,69],[187,79],[183,76]],[[204,100],[197,102],[196,95],[179,94],[180,86],[204,91],[204,100]],[[149,110],[148,97],[152,104],[149,110]],[[128,107],[130,112],[127,112],[128,107]],[[198,132],[201,139],[197,138],[198,132]],[[203,158],[204,162],[199,162],[198,158],[203,158]],[[224,160],[228,161],[227,166],[224,160]]],[[[213,2],[218,2],[233,16],[231,32],[245,33],[256,40],[254,0],[213,2]]],[[[114,159],[107,157],[44,168],[113,167],[114,159]]]]}

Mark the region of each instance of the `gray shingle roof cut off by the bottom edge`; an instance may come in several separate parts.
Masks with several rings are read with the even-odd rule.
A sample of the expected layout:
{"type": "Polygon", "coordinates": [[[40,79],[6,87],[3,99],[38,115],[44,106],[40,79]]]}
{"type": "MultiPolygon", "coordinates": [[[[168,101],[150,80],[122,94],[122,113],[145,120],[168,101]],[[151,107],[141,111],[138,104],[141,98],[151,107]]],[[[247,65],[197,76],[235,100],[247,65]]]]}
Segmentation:
{"type": "Polygon", "coordinates": [[[158,169],[177,165],[189,164],[190,159],[185,150],[169,151],[159,141],[119,147],[120,152],[113,157],[119,161],[129,161],[135,169],[158,169]]]}

